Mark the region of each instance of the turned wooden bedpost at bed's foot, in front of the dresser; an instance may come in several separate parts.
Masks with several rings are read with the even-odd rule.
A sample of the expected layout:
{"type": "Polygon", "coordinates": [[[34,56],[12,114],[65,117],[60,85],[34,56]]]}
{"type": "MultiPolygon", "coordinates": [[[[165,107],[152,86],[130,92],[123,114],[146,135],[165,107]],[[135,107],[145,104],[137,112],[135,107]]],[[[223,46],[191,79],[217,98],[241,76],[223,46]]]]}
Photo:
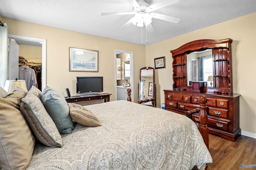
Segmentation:
{"type": "Polygon", "coordinates": [[[207,111],[206,111],[207,98],[204,96],[201,96],[199,98],[199,102],[200,102],[200,112],[199,112],[200,123],[199,123],[198,130],[200,131],[204,139],[204,143],[209,150],[209,128],[207,127],[208,117],[207,117],[207,111]]]}

